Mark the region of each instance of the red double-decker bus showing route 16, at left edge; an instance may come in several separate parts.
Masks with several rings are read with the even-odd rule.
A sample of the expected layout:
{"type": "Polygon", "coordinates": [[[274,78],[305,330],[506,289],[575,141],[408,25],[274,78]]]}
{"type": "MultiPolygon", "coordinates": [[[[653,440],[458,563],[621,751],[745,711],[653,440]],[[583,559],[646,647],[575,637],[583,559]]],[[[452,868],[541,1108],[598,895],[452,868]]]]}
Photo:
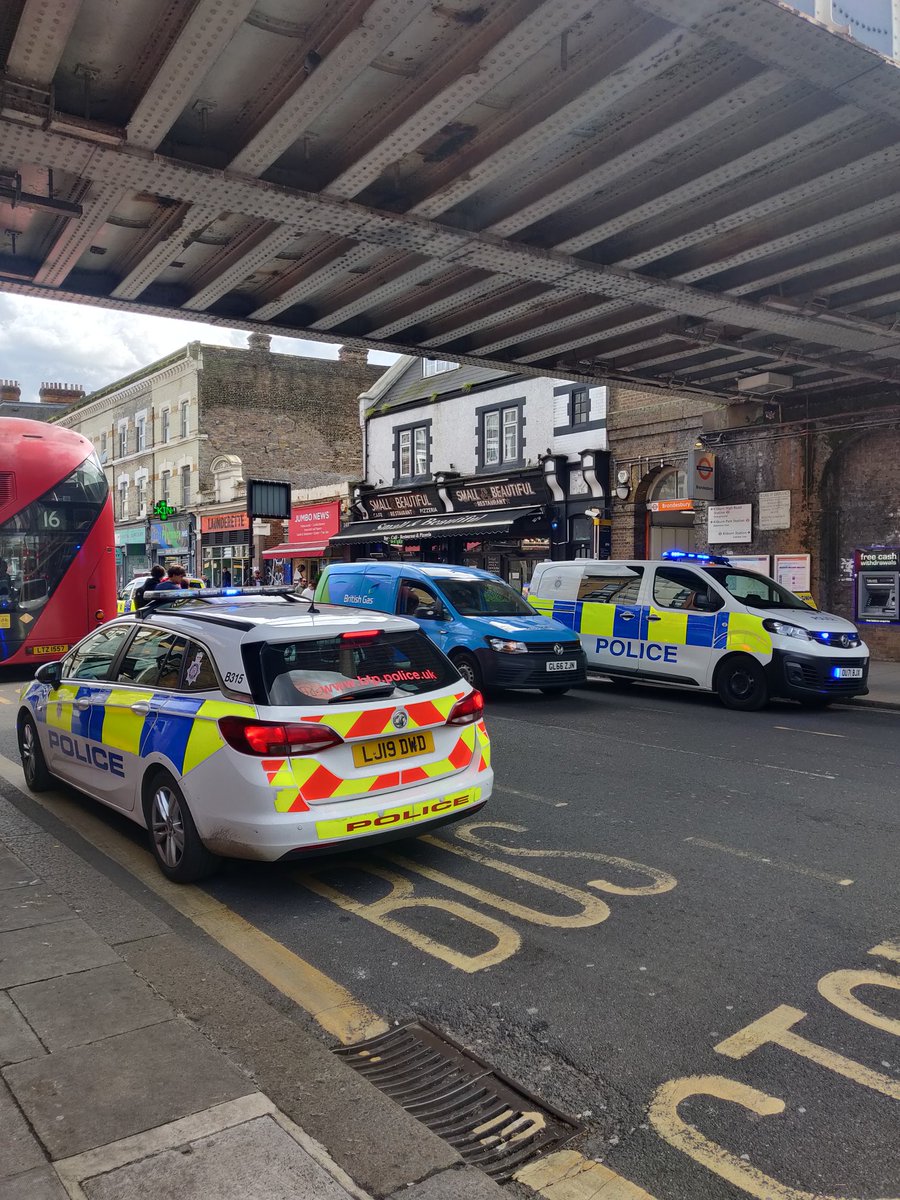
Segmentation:
{"type": "Polygon", "coordinates": [[[72,430],[0,418],[0,667],[58,659],[115,616],[113,505],[72,430]]]}

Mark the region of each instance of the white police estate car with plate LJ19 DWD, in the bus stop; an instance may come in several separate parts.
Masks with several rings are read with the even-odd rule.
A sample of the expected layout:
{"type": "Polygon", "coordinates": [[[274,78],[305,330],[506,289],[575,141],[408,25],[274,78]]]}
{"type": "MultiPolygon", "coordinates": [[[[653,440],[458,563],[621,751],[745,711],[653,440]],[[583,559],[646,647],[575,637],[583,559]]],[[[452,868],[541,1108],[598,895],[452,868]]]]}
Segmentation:
{"type": "Polygon", "coordinates": [[[482,713],[404,618],[228,588],[158,593],[42,665],[17,728],[32,791],[55,776],[124,812],[190,882],[478,811],[482,713]]]}

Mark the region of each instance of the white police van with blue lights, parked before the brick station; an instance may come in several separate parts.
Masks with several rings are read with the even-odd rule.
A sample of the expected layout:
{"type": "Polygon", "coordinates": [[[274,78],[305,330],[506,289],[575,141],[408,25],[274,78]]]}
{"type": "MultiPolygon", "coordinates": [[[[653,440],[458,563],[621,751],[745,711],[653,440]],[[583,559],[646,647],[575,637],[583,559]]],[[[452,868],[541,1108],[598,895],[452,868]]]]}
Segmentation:
{"type": "Polygon", "coordinates": [[[714,554],[540,563],[529,602],[575,630],[588,668],[620,685],[714,691],[744,710],[773,696],[822,708],[868,691],[869,650],[851,622],[714,554]]]}

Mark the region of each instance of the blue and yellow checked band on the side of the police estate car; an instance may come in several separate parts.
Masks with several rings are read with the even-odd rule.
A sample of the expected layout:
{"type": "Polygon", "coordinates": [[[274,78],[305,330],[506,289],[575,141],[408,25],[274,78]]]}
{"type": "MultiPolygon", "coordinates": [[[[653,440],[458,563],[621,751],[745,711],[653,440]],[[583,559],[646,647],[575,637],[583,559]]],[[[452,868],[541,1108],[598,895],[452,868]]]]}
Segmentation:
{"type": "MultiPolygon", "coordinates": [[[[36,702],[40,694],[41,685],[32,685],[26,695],[36,702]]],[[[161,754],[179,775],[186,775],[224,745],[216,724],[220,718],[257,715],[251,704],[233,701],[67,683],[47,697],[46,707],[35,703],[35,712],[50,728],[73,737],[102,742],[139,758],[161,754]],[[79,700],[92,703],[82,709],[76,704],[79,700]],[[137,703],[149,703],[150,712],[134,713],[131,706],[137,703]]]]}

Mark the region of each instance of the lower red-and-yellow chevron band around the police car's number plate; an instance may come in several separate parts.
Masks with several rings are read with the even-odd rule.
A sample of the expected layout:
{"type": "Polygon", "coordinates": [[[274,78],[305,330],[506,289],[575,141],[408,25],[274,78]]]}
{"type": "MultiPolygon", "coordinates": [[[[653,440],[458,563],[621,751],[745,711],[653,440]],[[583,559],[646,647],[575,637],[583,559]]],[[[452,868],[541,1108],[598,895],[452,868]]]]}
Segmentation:
{"type": "Polygon", "coordinates": [[[383,792],[391,787],[421,784],[428,779],[455,774],[469,766],[476,750],[480,751],[478,769],[486,770],[490,764],[490,740],[484,722],[462,726],[456,745],[446,758],[422,766],[384,772],[380,775],[341,779],[316,758],[302,757],[264,758],[263,769],[269,784],[277,788],[275,808],[278,812],[307,812],[310,804],[323,800],[337,800],[343,796],[362,796],[366,792],[383,792]]]}

